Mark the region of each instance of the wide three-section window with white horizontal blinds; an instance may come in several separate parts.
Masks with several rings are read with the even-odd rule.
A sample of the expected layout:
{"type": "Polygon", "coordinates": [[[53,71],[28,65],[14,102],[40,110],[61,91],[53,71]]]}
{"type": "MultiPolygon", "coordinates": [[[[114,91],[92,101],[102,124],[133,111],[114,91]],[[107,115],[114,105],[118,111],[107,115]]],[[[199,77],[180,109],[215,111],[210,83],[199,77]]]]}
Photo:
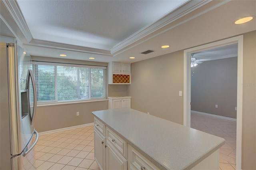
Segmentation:
{"type": "Polygon", "coordinates": [[[106,67],[34,61],[37,101],[106,99],[106,67]]]}

